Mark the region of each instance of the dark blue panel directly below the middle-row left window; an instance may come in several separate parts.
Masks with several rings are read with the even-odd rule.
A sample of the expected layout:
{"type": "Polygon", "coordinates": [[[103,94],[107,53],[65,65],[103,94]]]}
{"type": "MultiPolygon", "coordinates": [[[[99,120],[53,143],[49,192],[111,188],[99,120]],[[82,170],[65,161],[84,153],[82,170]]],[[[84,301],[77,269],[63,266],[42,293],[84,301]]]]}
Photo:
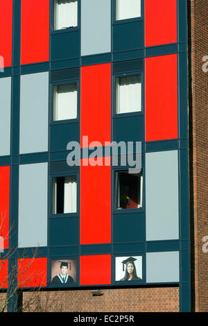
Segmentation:
{"type": "Polygon", "coordinates": [[[79,139],[79,123],[60,124],[50,127],[50,151],[66,151],[69,141],[79,141],[79,139]]]}

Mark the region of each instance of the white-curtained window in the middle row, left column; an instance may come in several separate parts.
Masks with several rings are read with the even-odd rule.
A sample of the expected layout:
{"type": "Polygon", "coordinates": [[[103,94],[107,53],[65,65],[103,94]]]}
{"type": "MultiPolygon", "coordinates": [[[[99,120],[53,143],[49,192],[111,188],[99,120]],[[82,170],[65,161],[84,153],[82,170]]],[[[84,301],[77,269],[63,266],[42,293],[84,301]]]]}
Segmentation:
{"type": "Polygon", "coordinates": [[[53,121],[76,117],[77,83],[53,86],[53,121]]]}

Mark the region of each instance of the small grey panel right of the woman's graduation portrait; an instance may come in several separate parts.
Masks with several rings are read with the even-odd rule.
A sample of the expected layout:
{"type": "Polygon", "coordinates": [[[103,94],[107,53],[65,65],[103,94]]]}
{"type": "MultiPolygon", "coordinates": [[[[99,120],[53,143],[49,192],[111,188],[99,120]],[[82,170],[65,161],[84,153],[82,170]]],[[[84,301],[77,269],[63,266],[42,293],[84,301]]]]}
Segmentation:
{"type": "Polygon", "coordinates": [[[179,252],[147,252],[146,282],[179,282],[179,252]]]}

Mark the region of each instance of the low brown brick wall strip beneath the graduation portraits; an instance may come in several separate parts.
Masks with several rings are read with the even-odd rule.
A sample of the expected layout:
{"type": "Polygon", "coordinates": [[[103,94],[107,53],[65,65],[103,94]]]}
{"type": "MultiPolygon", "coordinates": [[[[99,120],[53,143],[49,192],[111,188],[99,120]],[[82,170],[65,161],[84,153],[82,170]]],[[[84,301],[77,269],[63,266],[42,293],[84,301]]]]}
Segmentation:
{"type": "MultiPolygon", "coordinates": [[[[25,311],[55,312],[176,312],[179,311],[179,288],[105,289],[102,296],[89,290],[41,291],[25,311]]],[[[33,293],[24,292],[24,302],[33,293]]]]}

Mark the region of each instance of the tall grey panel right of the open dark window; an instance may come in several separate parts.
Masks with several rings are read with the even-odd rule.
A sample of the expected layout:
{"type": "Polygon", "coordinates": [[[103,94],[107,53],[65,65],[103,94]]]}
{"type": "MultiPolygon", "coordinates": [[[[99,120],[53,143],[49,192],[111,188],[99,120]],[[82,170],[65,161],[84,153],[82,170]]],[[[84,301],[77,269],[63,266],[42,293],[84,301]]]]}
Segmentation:
{"type": "Polygon", "coordinates": [[[179,237],[177,151],[146,154],[146,240],[179,237]]]}

